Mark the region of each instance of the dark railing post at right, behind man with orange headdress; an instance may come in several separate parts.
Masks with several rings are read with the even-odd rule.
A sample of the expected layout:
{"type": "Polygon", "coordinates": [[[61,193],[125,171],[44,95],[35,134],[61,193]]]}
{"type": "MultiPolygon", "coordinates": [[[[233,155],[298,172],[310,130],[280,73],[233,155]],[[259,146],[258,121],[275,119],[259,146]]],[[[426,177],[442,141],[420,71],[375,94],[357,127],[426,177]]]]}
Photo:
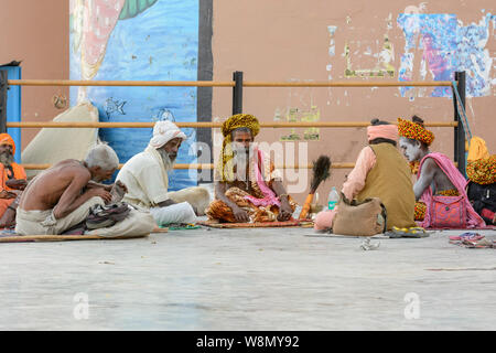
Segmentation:
{"type": "MultiPolygon", "coordinates": [[[[460,95],[461,104],[465,106],[465,72],[455,72],[456,89],[460,95]]],[[[454,89],[454,87],[453,87],[454,89]]],[[[459,126],[454,128],[454,161],[459,163],[459,170],[465,176],[465,130],[463,128],[462,117],[459,114],[456,95],[453,92],[454,120],[459,126]]]]}

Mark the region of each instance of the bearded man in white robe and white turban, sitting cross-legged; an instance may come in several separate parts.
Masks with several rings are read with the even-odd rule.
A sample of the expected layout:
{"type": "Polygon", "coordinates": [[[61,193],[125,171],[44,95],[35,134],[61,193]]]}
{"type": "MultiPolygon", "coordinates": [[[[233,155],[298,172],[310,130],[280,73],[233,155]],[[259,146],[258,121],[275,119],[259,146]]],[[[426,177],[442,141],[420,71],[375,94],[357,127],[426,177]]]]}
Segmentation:
{"type": "Polygon", "coordinates": [[[185,139],[186,135],[173,122],[157,121],[145,150],[127,161],[117,174],[116,180],[128,188],[123,201],[149,210],[158,225],[194,223],[209,203],[208,190],[201,186],[169,191],[168,172],[185,139]]]}

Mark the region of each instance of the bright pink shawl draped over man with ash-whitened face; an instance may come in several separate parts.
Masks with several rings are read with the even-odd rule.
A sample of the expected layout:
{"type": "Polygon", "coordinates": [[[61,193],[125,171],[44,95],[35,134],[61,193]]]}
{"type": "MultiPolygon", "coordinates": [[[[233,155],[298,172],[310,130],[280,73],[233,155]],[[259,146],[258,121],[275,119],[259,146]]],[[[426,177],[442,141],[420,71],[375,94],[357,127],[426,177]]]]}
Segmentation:
{"type": "MultiPolygon", "coordinates": [[[[442,171],[446,174],[446,176],[450,179],[450,181],[453,183],[453,185],[459,191],[459,194],[463,196],[463,202],[466,206],[466,225],[467,228],[475,228],[475,227],[485,227],[486,224],[483,218],[475,212],[474,207],[472,207],[472,204],[468,201],[468,196],[465,192],[465,185],[466,180],[463,178],[462,173],[456,169],[456,167],[453,164],[453,162],[444,154],[432,152],[427,154],[422,160],[420,161],[419,165],[419,173],[418,178],[420,178],[420,173],[422,171],[422,164],[425,161],[427,158],[432,158],[435,163],[438,163],[439,168],[442,169],[442,171]]],[[[428,228],[431,225],[431,204],[432,204],[432,189],[431,186],[427,188],[423,192],[422,196],[420,196],[420,201],[425,203],[427,210],[425,210],[425,217],[421,222],[417,222],[421,227],[428,228]]]]}

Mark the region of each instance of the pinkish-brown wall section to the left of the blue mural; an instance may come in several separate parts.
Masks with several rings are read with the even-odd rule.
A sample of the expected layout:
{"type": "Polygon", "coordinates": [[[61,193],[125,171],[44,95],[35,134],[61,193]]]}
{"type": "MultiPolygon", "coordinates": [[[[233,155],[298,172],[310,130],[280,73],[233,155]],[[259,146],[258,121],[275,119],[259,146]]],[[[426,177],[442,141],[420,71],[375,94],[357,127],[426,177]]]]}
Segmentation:
{"type": "MultiPolygon", "coordinates": [[[[0,0],[0,64],[22,60],[22,78],[68,79],[69,23],[66,0],[0,0]]],[[[54,95],[66,87],[22,87],[22,120],[47,121],[61,114],[54,95]]],[[[22,130],[22,148],[39,129],[22,130]]]]}

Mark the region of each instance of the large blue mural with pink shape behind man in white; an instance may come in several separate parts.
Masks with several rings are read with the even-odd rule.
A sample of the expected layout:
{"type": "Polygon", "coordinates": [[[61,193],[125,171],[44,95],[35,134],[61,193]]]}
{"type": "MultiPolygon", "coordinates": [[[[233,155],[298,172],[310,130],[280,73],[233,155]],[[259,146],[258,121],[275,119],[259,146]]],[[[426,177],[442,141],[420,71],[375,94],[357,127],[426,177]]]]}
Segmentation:
{"type": "MultiPolygon", "coordinates": [[[[71,79],[196,81],[197,0],[72,0],[71,79]]],[[[196,87],[73,87],[71,104],[89,100],[101,121],[196,121],[196,87]]],[[[194,129],[177,163],[188,153],[194,129]]],[[[100,129],[121,162],[142,151],[152,129],[100,129]]],[[[171,189],[196,184],[196,171],[170,173],[171,189]]]]}

